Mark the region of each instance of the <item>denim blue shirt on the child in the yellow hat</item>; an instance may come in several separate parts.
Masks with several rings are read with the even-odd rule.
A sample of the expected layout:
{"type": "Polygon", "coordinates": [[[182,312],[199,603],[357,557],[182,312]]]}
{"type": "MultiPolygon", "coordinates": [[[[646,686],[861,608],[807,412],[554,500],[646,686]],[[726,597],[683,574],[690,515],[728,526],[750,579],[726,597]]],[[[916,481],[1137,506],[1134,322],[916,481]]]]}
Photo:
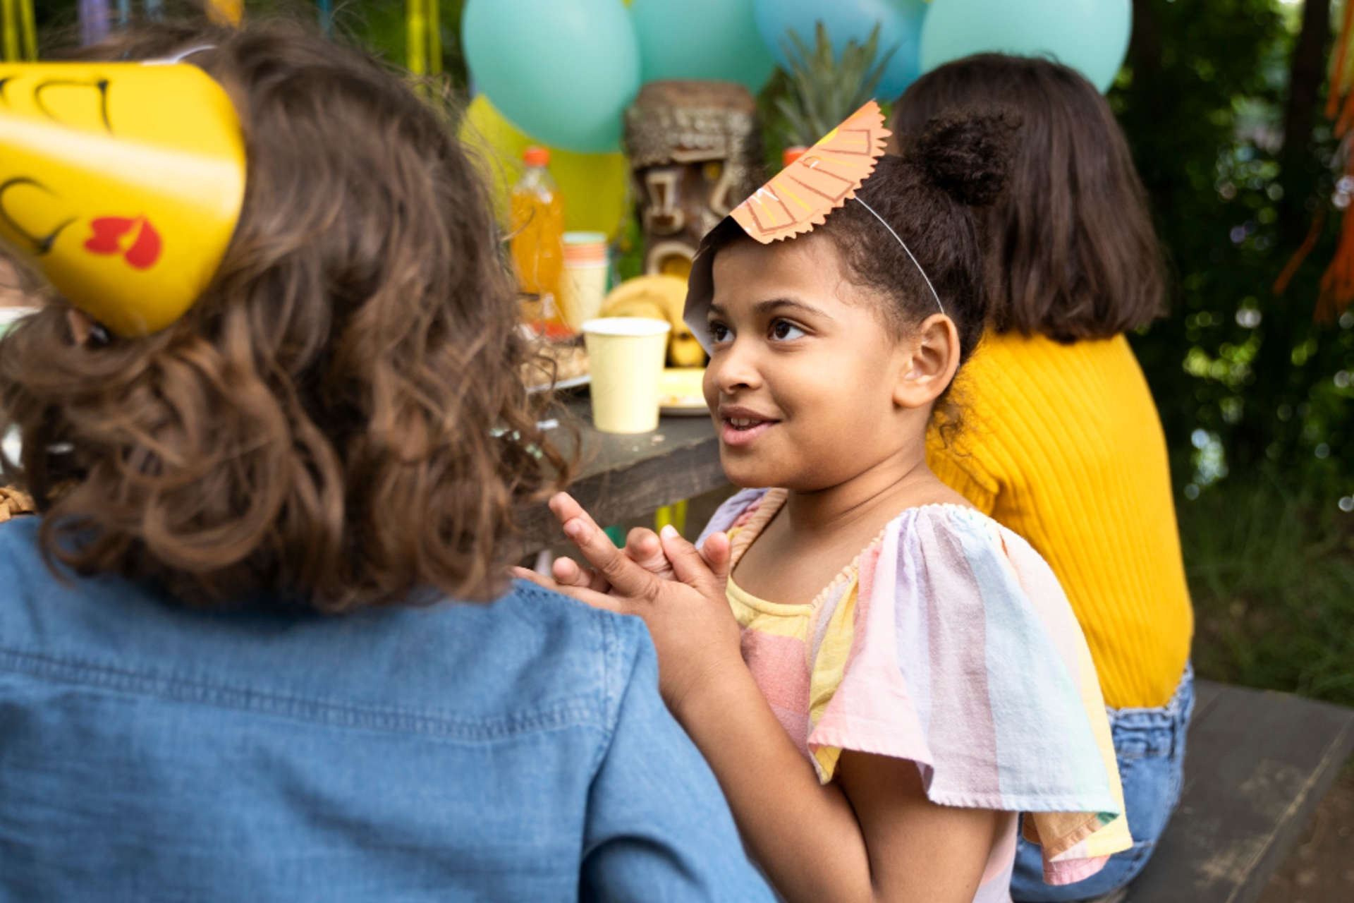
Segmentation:
{"type": "Polygon", "coordinates": [[[0,900],[769,900],[643,624],[57,581],[0,525],[0,900]]]}

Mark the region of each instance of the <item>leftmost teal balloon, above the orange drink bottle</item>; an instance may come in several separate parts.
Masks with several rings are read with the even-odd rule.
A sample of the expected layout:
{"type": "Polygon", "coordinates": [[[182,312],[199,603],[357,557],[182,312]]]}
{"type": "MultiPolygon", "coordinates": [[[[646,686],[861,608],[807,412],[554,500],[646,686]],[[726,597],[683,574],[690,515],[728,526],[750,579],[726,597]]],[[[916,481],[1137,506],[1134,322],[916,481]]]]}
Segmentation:
{"type": "Polygon", "coordinates": [[[468,0],[460,39],[475,88],[519,130],[581,153],[620,149],[639,43],[620,0],[468,0]]]}

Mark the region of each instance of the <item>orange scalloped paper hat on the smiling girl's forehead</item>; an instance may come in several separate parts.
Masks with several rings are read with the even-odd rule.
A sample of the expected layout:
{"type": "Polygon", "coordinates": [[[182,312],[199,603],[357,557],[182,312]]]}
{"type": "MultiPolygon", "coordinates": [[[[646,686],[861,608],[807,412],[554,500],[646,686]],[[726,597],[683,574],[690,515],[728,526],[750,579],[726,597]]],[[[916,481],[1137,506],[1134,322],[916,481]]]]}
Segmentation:
{"type": "Polygon", "coordinates": [[[737,223],[743,233],[769,245],[812,232],[831,211],[856,196],[884,156],[890,134],[883,111],[871,100],[709,230],[692,261],[682,314],[707,352],[705,317],[715,294],[714,260],[707,250],[711,236],[737,223]]]}

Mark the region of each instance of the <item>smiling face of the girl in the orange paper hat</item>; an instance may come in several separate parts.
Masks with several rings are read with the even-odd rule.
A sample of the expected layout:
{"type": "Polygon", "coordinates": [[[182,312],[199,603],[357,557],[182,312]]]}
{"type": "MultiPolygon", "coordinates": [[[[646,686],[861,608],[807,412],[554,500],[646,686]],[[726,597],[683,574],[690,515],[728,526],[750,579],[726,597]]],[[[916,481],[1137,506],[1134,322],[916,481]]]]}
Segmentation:
{"type": "Polygon", "coordinates": [[[704,391],[734,483],[815,491],[919,447],[929,412],[896,393],[910,343],[886,321],[891,301],[848,279],[831,238],[735,241],[714,282],[704,391]]]}

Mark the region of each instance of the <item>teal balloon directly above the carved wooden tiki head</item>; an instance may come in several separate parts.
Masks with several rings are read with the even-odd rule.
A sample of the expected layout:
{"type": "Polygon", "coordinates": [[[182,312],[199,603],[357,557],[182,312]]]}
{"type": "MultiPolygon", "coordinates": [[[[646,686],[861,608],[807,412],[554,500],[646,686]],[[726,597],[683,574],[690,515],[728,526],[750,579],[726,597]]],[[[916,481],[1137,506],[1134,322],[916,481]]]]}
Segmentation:
{"type": "Polygon", "coordinates": [[[634,0],[630,18],[645,81],[715,79],[756,93],[776,69],[753,0],[634,0]]]}

